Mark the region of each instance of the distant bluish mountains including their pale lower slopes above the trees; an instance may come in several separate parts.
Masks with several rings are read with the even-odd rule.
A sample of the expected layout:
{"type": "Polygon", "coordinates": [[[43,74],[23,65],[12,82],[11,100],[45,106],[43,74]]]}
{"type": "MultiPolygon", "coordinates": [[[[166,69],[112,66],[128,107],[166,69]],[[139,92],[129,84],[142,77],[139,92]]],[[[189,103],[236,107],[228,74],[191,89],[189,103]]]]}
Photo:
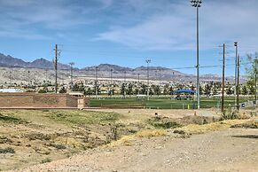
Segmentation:
{"type": "MultiPolygon", "coordinates": [[[[43,80],[43,74],[45,69],[48,69],[48,73],[51,74],[51,78],[54,79],[54,67],[52,61],[47,59],[35,59],[32,62],[27,62],[22,59],[13,58],[10,55],[4,55],[0,53],[0,76],[1,81],[9,81],[10,73],[4,69],[4,67],[9,68],[10,72],[12,72],[12,77],[17,77],[15,80],[17,82],[20,81],[20,78],[27,77],[28,70],[30,72],[35,71],[34,77],[36,80],[43,80]],[[15,70],[13,68],[16,68],[15,70]],[[22,69],[19,69],[22,68],[22,69]],[[2,72],[1,72],[2,71],[2,72]],[[22,72],[23,71],[23,72],[22,72]],[[41,72],[39,72],[41,71],[41,72]],[[25,75],[24,75],[25,74],[25,75]]],[[[92,76],[95,77],[96,68],[98,67],[98,77],[109,78],[110,72],[113,72],[113,78],[124,78],[125,74],[127,78],[137,79],[138,75],[141,79],[147,78],[147,67],[139,66],[136,68],[130,68],[126,66],[117,66],[111,64],[100,64],[98,66],[86,66],[84,68],[74,68],[74,76],[92,76]]],[[[70,66],[66,64],[59,63],[59,77],[64,80],[66,77],[69,77],[70,74],[70,66]]],[[[162,66],[149,66],[149,76],[151,80],[162,80],[162,81],[177,81],[177,82],[195,82],[196,76],[193,74],[184,74],[179,71],[162,67],[162,66]]],[[[14,79],[14,78],[13,78],[14,79]]],[[[200,76],[201,81],[221,81],[221,76],[216,74],[204,74],[200,76]]],[[[244,78],[240,78],[240,82],[242,82],[244,78]]],[[[23,79],[26,81],[26,79],[23,79]]],[[[232,77],[228,77],[227,81],[233,81],[232,77]]]]}

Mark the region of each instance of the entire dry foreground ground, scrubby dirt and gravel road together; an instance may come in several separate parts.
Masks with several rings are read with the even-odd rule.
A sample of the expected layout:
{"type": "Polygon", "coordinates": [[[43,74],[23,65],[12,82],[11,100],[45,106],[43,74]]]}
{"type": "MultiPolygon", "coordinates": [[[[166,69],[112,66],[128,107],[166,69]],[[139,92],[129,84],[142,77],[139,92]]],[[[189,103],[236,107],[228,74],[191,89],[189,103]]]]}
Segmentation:
{"type": "Polygon", "coordinates": [[[3,110],[2,171],[256,171],[252,110],[3,110]]]}

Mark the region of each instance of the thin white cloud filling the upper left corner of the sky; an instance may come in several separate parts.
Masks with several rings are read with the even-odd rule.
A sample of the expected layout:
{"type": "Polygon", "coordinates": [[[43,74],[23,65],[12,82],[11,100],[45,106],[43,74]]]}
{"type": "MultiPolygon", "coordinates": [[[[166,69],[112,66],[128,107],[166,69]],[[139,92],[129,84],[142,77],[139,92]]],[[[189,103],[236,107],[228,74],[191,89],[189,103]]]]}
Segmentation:
{"type": "Polygon", "coordinates": [[[69,30],[94,22],[90,14],[112,3],[113,0],[0,0],[0,36],[45,39],[50,37],[49,31],[69,30]]]}

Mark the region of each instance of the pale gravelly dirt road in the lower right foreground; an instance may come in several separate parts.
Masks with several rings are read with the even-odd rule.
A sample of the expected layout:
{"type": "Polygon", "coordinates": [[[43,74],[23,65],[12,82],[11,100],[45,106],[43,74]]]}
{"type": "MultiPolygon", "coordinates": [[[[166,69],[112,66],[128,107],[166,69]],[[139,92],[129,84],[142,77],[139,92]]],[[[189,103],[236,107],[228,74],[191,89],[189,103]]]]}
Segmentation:
{"type": "Polygon", "coordinates": [[[138,138],[22,171],[257,171],[258,129],[226,129],[189,138],[138,138]]]}

